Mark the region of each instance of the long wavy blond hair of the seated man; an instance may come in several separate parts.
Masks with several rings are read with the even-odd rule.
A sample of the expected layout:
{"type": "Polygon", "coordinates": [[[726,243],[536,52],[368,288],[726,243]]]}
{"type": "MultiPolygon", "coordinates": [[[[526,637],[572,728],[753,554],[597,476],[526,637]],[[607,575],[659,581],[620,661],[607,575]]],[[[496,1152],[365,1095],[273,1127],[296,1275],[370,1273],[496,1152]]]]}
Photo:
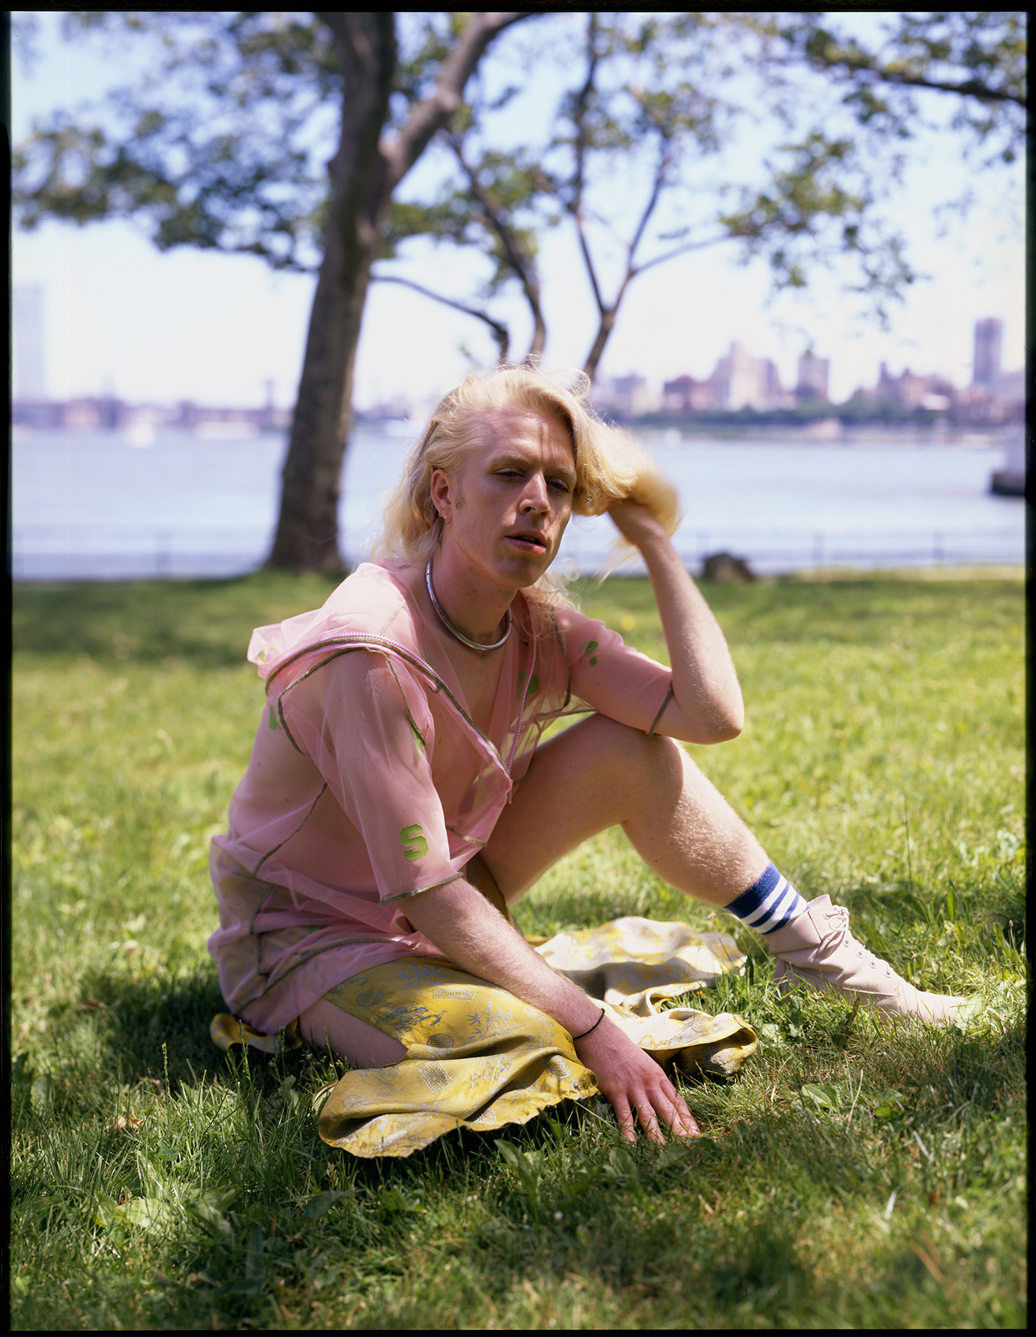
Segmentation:
{"type": "MultiPolygon", "coordinates": [[[[389,493],[385,527],[372,556],[398,563],[428,562],[442,540],[442,519],[432,501],[432,473],[456,475],[467,452],[483,441],[487,413],[533,413],[568,431],[576,464],[573,515],[603,515],[614,501],[639,501],[672,535],[679,523],[676,489],[628,432],[608,427],[587,404],[590,378],[569,386],[529,366],[499,366],[468,376],[445,394],[412,448],[402,477],[389,493]]],[[[631,555],[616,545],[619,560],[631,555]]],[[[615,563],[612,563],[615,566],[615,563]]],[[[563,582],[543,575],[527,594],[561,598],[563,582]]]]}

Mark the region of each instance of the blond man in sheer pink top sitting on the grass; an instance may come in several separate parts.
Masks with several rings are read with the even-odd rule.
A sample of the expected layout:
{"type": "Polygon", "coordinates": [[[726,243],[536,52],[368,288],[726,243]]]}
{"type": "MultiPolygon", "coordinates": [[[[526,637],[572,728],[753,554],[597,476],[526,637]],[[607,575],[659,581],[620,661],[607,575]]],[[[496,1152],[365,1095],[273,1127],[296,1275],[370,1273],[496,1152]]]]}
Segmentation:
{"type": "MultiPolygon", "coordinates": [[[[421,972],[461,971],[495,988],[487,1016],[511,1017],[497,1059],[515,1000],[544,1019],[536,1052],[568,1066],[569,1086],[529,1076],[539,1107],[595,1082],[626,1136],[635,1118],[651,1139],[660,1126],[696,1132],[659,1064],[491,902],[499,888],[513,904],[612,825],[672,886],[761,932],[779,983],[926,1023],[953,1016],[962,999],[920,993],[852,937],[845,909],[807,904],[680,746],[735,738],[743,705],[674,523],[648,457],[537,372],[469,377],[438,405],[388,508],[386,558],[322,610],[253,638],[269,706],[231,830],[214,841],[222,928],[210,944],[250,1025],[297,1017],[303,1039],[365,1071],[418,1051],[426,1064],[432,1042],[484,1056],[456,1017],[436,1034],[414,1020],[436,996],[460,996],[453,976],[421,972]],[[573,511],[604,509],[647,566],[671,668],[548,584],[573,511]],[[537,746],[576,710],[591,714],[537,746]]],[[[429,1083],[444,1072],[436,1059],[429,1083]]],[[[471,1126],[529,1116],[512,1099],[525,1078],[501,1072],[503,1086],[479,1087],[471,1126]]],[[[429,1118],[445,1108],[422,1106],[429,1118]]]]}

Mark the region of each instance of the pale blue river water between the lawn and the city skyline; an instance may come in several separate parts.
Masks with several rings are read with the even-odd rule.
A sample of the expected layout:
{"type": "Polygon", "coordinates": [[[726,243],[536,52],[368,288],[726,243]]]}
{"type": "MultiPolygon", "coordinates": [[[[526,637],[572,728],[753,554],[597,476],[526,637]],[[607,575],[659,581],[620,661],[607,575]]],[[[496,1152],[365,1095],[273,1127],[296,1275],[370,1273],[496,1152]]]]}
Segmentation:
{"type": "MultiPolygon", "coordinates": [[[[680,492],[676,550],[746,558],[761,574],[813,566],[1021,563],[1024,503],[989,495],[1004,448],[718,441],[646,436],[680,492]]],[[[266,556],[277,520],[281,435],[150,444],[111,432],[40,432],[13,443],[13,576],[115,580],[230,576],[266,556]]],[[[380,491],[409,439],[354,433],[340,524],[346,560],[378,527],[380,491]]],[[[591,574],[610,560],[607,517],[576,519],[561,559],[591,574]]],[[[623,571],[643,570],[628,563],[623,571]]]]}

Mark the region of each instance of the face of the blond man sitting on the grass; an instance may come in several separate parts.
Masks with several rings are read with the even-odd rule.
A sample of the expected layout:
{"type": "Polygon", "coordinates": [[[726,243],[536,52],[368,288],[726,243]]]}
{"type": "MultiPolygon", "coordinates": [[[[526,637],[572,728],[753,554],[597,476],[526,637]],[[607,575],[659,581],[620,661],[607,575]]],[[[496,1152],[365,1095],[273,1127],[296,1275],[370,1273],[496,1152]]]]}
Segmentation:
{"type": "MultiPolygon", "coordinates": [[[[532,413],[487,413],[457,475],[432,476],[449,516],[444,550],[511,588],[533,584],[557,555],[572,513],[575,455],[567,428],[532,413]]],[[[473,574],[473,572],[472,572],[473,574]]]]}

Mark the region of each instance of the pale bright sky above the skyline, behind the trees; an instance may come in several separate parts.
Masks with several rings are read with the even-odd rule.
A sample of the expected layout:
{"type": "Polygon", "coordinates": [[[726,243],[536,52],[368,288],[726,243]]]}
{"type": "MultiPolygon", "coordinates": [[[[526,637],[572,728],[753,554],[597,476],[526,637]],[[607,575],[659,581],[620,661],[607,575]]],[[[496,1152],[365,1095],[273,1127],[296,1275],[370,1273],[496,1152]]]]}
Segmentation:
{"type": "MultiPolygon", "coordinates": [[[[31,72],[12,63],[15,143],[31,120],[75,108],[126,78],[126,68],[96,49],[67,44],[56,15],[39,13],[31,72]]],[[[17,48],[17,39],[15,41],[17,48]]],[[[547,78],[547,76],[544,76],[547,78]]],[[[940,373],[958,385],[970,378],[973,322],[1004,320],[1004,364],[1020,366],[1024,341],[1024,242],[1017,209],[1004,186],[983,178],[970,214],[950,218],[940,234],[933,207],[968,185],[969,167],[949,135],[918,146],[896,222],[910,257],[928,278],[892,308],[882,330],[861,316],[858,298],[818,275],[805,295],[770,299],[762,261],[738,262],[730,245],[659,266],[635,281],[602,362],[602,374],[639,372],[655,385],[682,373],[707,376],[738,340],[771,357],[786,385],[806,346],[831,360],[831,397],[873,384],[878,364],[893,372],[940,373]]],[[[405,187],[428,185],[416,171],[405,187]]],[[[461,293],[477,262],[445,247],[418,243],[406,273],[429,287],[461,293]]],[[[45,223],[15,230],[15,285],[39,285],[44,299],[47,390],[53,398],[116,393],[131,401],[259,404],[267,380],[278,404],[294,401],[314,279],[277,274],[251,257],[179,249],[159,253],[142,225],[110,222],[79,229],[45,223]]],[[[577,368],[594,336],[595,312],[571,233],[548,234],[540,255],[545,294],[547,368],[577,368]]],[[[521,305],[508,310],[524,352],[521,305]]],[[[393,285],[373,285],[357,354],[356,402],[438,396],[469,369],[492,360],[476,321],[393,285]]]]}

